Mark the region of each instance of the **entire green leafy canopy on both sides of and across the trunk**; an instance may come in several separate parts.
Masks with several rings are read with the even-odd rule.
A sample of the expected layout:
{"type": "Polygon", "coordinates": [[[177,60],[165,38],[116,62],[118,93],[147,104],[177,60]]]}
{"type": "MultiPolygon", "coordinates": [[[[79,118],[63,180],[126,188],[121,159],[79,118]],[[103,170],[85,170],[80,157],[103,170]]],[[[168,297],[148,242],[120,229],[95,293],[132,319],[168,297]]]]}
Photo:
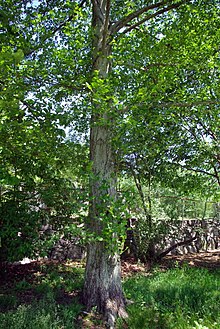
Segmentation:
{"type": "MultiPolygon", "coordinates": [[[[44,244],[44,238],[39,239],[42,224],[61,232],[66,221],[87,215],[88,202],[94,200],[88,197],[88,181],[94,183],[88,160],[93,127],[111,131],[113,140],[107,144],[115,155],[114,175],[135,180],[136,200],[147,223],[141,229],[145,237],[155,236],[159,226],[152,222],[152,190],[158,186],[181,196],[206,194],[218,201],[217,1],[183,1],[182,6],[168,1],[175,10],[166,6],[162,13],[160,5],[148,1],[149,10],[134,18],[146,3],[113,1],[108,31],[111,71],[105,78],[94,71],[92,62],[93,4],[1,1],[4,258],[38,255],[44,244]]],[[[97,205],[97,226],[104,227],[96,237],[100,242],[110,245],[114,236],[117,247],[117,234],[124,234],[119,217],[127,215],[126,205],[134,206],[132,189],[126,191],[122,206],[108,193],[97,205]]],[[[168,217],[177,216],[177,208],[164,208],[168,217]]]]}

